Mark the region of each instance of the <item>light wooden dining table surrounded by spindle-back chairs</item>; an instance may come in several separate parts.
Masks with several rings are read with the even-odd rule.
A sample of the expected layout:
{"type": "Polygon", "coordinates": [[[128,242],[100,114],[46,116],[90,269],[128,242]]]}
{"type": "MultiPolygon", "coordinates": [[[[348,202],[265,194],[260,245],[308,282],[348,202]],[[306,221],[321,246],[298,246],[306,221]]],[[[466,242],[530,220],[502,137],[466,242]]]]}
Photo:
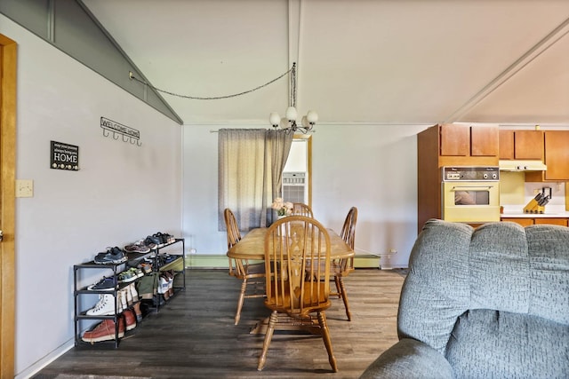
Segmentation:
{"type": "MultiPolygon", "coordinates": [[[[238,241],[230,249],[228,249],[227,256],[236,259],[248,260],[265,260],[265,236],[267,235],[268,227],[254,228],[246,233],[241,241],[238,241]]],[[[341,236],[334,232],[333,229],[326,228],[330,236],[330,259],[344,259],[354,257],[356,254],[353,249],[341,238],[341,236]]],[[[311,321],[305,324],[299,323],[298,320],[286,320],[286,318],[279,318],[284,321],[279,321],[276,329],[279,330],[299,330],[313,328],[311,321]]],[[[262,334],[267,329],[268,318],[258,322],[250,331],[251,334],[262,334]]],[[[316,333],[316,332],[315,332],[316,333]]]]}

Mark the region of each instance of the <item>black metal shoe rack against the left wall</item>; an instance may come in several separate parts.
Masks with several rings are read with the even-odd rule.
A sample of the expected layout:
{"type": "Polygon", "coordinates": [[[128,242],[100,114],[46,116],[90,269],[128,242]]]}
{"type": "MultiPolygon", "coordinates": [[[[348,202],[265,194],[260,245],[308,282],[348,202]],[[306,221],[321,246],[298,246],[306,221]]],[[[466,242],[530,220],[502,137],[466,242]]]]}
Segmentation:
{"type": "MultiPolygon", "coordinates": [[[[175,256],[176,254],[171,254],[172,256],[175,256]]],[[[159,246],[154,249],[151,249],[148,253],[145,254],[141,254],[139,257],[137,258],[141,258],[141,257],[152,257],[154,256],[154,265],[152,267],[152,270],[155,272],[160,272],[163,270],[169,270],[171,267],[174,267],[175,265],[179,264],[179,261],[181,259],[182,262],[182,269],[180,272],[176,272],[176,275],[182,275],[182,286],[181,287],[175,287],[174,288],[174,296],[180,292],[180,290],[185,290],[186,289],[186,241],[183,238],[177,238],[175,239],[175,241],[172,241],[170,243],[164,243],[162,246],[159,246]],[[175,243],[179,243],[181,242],[182,245],[182,249],[181,249],[181,254],[179,255],[178,258],[174,259],[172,262],[163,265],[162,267],[158,267],[158,257],[160,255],[160,249],[164,249],[168,246],[171,246],[175,243]]],[[[121,314],[111,314],[111,315],[87,315],[86,314],[86,310],[81,309],[80,307],[82,306],[81,301],[80,301],[80,297],[82,295],[105,295],[105,294],[112,294],[115,297],[115,309],[118,309],[118,296],[117,293],[119,291],[119,289],[121,289],[120,284],[118,283],[118,273],[124,271],[124,269],[126,268],[127,263],[122,263],[122,264],[106,264],[106,265],[100,265],[100,264],[96,264],[94,261],[91,262],[87,262],[81,265],[74,265],[73,266],[73,281],[74,281],[74,291],[73,291],[73,295],[74,295],[74,312],[75,312],[75,345],[77,346],[88,346],[88,345],[100,345],[100,344],[106,344],[108,345],[108,343],[112,343],[114,345],[115,348],[118,347],[118,343],[119,343],[119,338],[118,338],[118,319],[121,316],[121,314]],[[78,288],[77,285],[80,281],[80,274],[79,272],[81,272],[84,269],[105,269],[105,270],[112,270],[113,272],[113,280],[115,283],[115,289],[113,291],[101,291],[101,290],[89,290],[86,287],[83,288],[78,288]],[[109,340],[109,341],[103,341],[103,342],[99,342],[99,343],[86,343],[81,339],[81,321],[82,320],[113,320],[115,322],[115,340],[109,340]]],[[[138,281],[138,279],[136,280],[138,281]]],[[[128,283],[130,284],[130,283],[128,283]]],[[[158,283],[159,284],[159,283],[158,283]]],[[[160,309],[160,302],[158,301],[158,294],[157,294],[157,288],[156,288],[156,312],[159,311],[160,309]]],[[[139,299],[139,302],[142,301],[141,299],[139,299]]],[[[168,300],[170,301],[170,299],[168,300]]],[[[124,328],[126,329],[126,325],[124,325],[124,328]]],[[[126,330],[125,330],[126,332],[126,330]]]]}

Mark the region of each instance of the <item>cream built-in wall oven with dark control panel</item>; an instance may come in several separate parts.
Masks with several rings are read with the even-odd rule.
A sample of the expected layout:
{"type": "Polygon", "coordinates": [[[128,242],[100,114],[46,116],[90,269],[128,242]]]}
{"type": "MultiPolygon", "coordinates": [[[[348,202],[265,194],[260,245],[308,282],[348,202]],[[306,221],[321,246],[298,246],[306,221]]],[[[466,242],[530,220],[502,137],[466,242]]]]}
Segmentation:
{"type": "Polygon", "coordinates": [[[443,167],[442,218],[463,223],[500,221],[498,166],[443,167]]]}

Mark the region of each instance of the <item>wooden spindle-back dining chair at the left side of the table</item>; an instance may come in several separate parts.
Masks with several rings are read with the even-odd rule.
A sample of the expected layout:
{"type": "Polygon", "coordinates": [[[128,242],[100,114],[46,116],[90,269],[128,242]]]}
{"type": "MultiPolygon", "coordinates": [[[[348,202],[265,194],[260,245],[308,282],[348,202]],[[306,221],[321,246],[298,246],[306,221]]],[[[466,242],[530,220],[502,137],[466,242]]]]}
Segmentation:
{"type": "MultiPolygon", "coordinates": [[[[231,249],[233,245],[241,241],[241,233],[239,232],[236,217],[231,209],[225,209],[223,211],[223,217],[227,228],[228,249],[231,249]]],[[[229,275],[241,280],[241,292],[239,293],[235,313],[235,325],[237,325],[241,319],[241,309],[243,308],[244,299],[265,296],[265,293],[259,290],[259,288],[264,288],[265,264],[262,262],[250,263],[248,259],[229,258],[229,275]],[[249,293],[247,293],[247,285],[251,285],[253,291],[250,290],[249,293]]]]}

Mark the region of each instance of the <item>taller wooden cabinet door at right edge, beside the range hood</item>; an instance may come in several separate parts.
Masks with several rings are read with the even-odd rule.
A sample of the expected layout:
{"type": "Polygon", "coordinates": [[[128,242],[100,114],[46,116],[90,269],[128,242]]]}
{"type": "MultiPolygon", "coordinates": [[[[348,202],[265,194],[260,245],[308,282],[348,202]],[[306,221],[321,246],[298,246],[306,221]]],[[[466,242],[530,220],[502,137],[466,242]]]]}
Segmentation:
{"type": "Polygon", "coordinates": [[[569,180],[569,130],[545,131],[546,180],[569,180]]]}

